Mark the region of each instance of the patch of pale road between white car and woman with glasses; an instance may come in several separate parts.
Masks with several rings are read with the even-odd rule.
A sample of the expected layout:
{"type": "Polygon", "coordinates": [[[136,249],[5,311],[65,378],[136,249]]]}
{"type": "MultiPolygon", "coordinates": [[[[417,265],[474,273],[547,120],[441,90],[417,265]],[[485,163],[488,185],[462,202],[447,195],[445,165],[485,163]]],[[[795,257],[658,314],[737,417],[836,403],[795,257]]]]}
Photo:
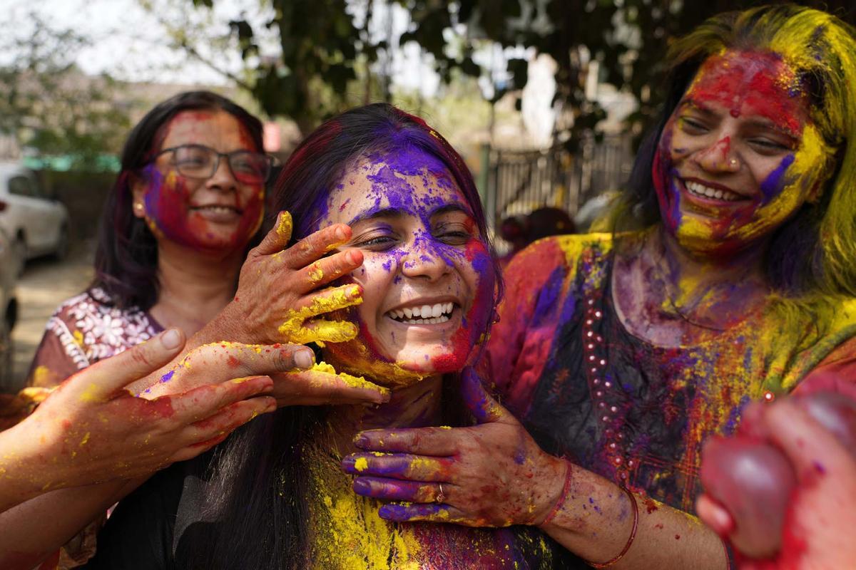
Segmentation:
{"type": "Polygon", "coordinates": [[[92,281],[93,251],[91,243],[77,244],[63,261],[45,258],[27,263],[18,281],[20,311],[18,324],[12,331],[15,345],[13,378],[18,388],[27,378],[48,317],[62,301],[84,291],[92,281]]]}

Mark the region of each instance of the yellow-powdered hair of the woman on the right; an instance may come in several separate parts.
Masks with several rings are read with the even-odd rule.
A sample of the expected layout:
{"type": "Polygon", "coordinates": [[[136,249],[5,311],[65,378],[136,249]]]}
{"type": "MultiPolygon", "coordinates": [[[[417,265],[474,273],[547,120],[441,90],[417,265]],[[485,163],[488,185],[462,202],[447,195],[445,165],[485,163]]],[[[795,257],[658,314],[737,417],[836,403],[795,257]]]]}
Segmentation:
{"type": "Polygon", "coordinates": [[[651,167],[669,116],[708,57],[723,50],[782,56],[810,95],[811,120],[828,152],[823,194],[774,233],[764,272],[774,291],[794,299],[856,296],[856,35],[815,9],[782,4],[716,15],[671,45],[663,111],[633,164],[615,230],[660,222],[651,167]]]}

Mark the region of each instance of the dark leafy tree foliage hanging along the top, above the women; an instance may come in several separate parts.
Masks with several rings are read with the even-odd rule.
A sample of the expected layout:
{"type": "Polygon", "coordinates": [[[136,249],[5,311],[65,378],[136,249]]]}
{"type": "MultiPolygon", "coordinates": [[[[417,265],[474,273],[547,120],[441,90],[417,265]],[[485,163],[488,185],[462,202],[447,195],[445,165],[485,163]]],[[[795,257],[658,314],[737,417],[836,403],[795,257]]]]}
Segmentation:
{"type": "MultiPolygon", "coordinates": [[[[187,1],[187,0],[185,0],[187,1]]],[[[215,0],[192,0],[211,8],[215,0]]],[[[765,0],[763,3],[769,3],[765,0]]],[[[301,127],[314,125],[341,110],[349,82],[396,45],[416,42],[431,56],[445,81],[455,72],[487,77],[495,85],[491,100],[526,85],[526,60],[507,61],[507,79],[474,60],[485,44],[526,47],[549,54],[557,63],[556,103],[568,118],[557,133],[574,145],[591,132],[603,109],[586,97],[591,62],[599,79],[629,91],[639,111],[628,127],[639,132],[661,103],[657,89],[671,38],[686,33],[710,15],[757,5],[757,0],[269,0],[270,20],[281,55],[258,59],[258,26],[236,17],[230,28],[241,55],[257,62],[246,83],[269,115],[286,115],[301,127]],[[372,34],[378,6],[397,4],[408,10],[410,24],[399,38],[372,34]],[[319,104],[324,101],[324,104],[319,104]],[[563,136],[562,136],[563,135],[563,136]]],[[[805,2],[835,11],[853,22],[848,0],[805,2]]]]}

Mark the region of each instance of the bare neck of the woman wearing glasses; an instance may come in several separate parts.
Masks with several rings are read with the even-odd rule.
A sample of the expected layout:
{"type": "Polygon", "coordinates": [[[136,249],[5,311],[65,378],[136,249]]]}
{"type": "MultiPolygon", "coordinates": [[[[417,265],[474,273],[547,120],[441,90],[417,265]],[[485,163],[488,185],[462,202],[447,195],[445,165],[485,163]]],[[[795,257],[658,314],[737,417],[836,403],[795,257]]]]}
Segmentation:
{"type": "Polygon", "coordinates": [[[198,332],[235,294],[242,250],[209,254],[171,242],[158,243],[158,303],[152,316],[187,336],[198,332]]]}

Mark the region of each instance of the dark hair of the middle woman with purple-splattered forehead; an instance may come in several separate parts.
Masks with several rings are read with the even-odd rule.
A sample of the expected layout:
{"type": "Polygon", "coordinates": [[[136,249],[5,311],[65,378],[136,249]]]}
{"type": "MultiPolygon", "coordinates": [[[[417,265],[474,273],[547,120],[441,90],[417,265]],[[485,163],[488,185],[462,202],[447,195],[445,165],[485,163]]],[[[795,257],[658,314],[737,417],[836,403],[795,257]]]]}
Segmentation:
{"type": "MultiPolygon", "coordinates": [[[[461,156],[425,121],[385,103],[351,109],[312,132],[282,167],[271,214],[287,209],[294,219],[294,239],[304,237],[316,221],[318,203],[329,196],[346,168],[362,156],[402,145],[443,162],[487,242],[479,194],[461,156]]],[[[496,275],[498,280],[498,271],[496,275]]],[[[449,405],[453,383],[444,384],[444,413],[455,414],[463,405],[449,405]]],[[[205,520],[217,523],[208,525],[204,534],[186,538],[189,544],[176,552],[179,567],[273,570],[309,562],[304,455],[322,414],[316,407],[282,408],[253,420],[220,446],[203,501],[205,520]]],[[[461,423],[460,418],[446,420],[461,423]]]]}

